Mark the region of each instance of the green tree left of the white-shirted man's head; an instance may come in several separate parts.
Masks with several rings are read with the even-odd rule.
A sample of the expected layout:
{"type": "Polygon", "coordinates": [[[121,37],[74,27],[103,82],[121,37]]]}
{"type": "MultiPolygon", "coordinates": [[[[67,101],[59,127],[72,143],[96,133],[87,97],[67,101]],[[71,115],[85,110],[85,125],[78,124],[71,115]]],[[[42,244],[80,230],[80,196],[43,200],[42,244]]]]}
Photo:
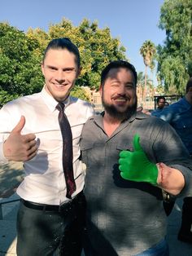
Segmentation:
{"type": "MultiPolygon", "coordinates": [[[[34,83],[39,76],[37,65],[39,58],[35,50],[39,44],[35,38],[28,38],[26,34],[7,23],[0,23],[0,95],[1,103],[9,97],[18,97],[39,91],[39,84],[34,83]]],[[[40,65],[39,65],[40,66],[40,65]]],[[[40,70],[40,68],[39,68],[40,70]]]]}

